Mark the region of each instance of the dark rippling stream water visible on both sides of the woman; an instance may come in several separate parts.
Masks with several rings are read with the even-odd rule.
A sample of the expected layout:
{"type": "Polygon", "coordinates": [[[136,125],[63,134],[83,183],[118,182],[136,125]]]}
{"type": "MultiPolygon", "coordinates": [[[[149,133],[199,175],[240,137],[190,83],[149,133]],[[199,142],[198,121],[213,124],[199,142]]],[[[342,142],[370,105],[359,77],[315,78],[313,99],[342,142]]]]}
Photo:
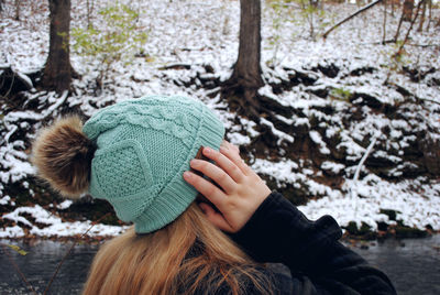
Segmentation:
{"type": "MultiPolygon", "coordinates": [[[[70,243],[53,241],[37,241],[32,245],[9,240],[0,242],[16,244],[29,252],[23,256],[9,248],[7,250],[38,294],[43,294],[56,266],[70,248],[70,243]]],[[[417,240],[367,242],[353,249],[387,273],[398,294],[440,294],[440,234],[417,240]]],[[[77,244],[47,294],[79,294],[97,250],[98,245],[77,244]]],[[[0,294],[32,294],[2,248],[0,265],[0,294]]]]}

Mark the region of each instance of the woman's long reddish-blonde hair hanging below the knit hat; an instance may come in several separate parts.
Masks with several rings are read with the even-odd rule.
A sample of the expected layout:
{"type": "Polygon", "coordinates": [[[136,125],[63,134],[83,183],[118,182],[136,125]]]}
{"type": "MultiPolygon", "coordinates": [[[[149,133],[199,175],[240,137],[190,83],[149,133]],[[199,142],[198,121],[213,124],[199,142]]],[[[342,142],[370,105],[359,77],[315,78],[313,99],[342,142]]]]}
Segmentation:
{"type": "Polygon", "coordinates": [[[271,277],[196,204],[174,222],[136,236],[133,229],[106,242],[95,256],[85,295],[272,294],[271,277]],[[218,293],[217,293],[218,294],[218,293]]]}

